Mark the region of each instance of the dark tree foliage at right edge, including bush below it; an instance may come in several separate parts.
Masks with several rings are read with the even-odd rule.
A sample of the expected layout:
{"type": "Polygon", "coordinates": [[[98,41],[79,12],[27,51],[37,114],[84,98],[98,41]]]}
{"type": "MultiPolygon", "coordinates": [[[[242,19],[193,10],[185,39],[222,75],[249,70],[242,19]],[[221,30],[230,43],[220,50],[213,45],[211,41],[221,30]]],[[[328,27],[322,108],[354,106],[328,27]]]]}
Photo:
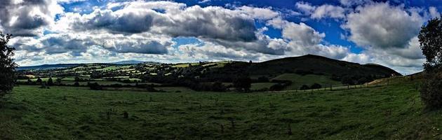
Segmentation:
{"type": "Polygon", "coordinates": [[[440,109],[442,107],[442,19],[429,20],[427,25],[422,26],[418,38],[422,54],[427,59],[424,63],[425,78],[420,97],[427,109],[440,109]]]}

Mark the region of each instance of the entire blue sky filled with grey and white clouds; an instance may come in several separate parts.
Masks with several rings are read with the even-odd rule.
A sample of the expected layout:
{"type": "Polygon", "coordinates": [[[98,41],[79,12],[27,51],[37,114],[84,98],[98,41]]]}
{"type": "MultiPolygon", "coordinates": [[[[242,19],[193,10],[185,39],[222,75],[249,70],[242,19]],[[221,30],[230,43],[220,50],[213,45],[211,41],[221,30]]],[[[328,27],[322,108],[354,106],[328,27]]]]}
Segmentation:
{"type": "Polygon", "coordinates": [[[2,0],[20,66],[166,63],[307,54],[422,71],[417,34],[441,0],[2,0]]]}

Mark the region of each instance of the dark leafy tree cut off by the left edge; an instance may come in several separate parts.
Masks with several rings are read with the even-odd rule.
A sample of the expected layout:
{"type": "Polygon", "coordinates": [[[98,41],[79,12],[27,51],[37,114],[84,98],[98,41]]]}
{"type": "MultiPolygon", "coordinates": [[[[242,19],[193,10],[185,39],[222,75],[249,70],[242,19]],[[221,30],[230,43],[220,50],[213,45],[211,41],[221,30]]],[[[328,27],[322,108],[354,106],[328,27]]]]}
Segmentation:
{"type": "Polygon", "coordinates": [[[0,31],[0,97],[11,92],[14,87],[17,64],[12,59],[15,48],[8,46],[11,36],[11,34],[5,35],[0,31]]]}

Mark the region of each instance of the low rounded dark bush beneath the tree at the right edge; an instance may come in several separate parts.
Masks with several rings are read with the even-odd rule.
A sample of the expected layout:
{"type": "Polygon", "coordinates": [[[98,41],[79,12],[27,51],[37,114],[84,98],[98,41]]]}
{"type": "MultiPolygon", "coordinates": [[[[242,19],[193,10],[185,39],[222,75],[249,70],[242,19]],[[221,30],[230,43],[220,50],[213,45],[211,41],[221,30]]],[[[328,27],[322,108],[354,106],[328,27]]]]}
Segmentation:
{"type": "Polygon", "coordinates": [[[422,83],[420,97],[427,109],[440,109],[442,107],[442,73],[427,74],[422,83]]]}

